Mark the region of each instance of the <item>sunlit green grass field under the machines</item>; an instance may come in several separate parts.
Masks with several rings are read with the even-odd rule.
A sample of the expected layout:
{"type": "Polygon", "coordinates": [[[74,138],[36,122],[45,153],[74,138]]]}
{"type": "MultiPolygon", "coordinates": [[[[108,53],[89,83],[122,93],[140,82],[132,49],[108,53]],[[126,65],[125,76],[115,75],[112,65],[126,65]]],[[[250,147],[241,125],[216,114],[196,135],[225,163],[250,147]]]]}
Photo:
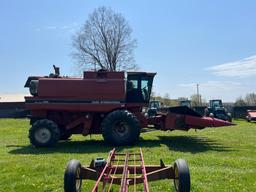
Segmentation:
{"type": "MultiPolygon", "coordinates": [[[[237,126],[195,132],[148,132],[133,147],[118,151],[138,151],[146,164],[166,164],[187,160],[191,191],[256,191],[256,123],[235,121],[237,126]]],[[[63,191],[67,162],[78,159],[88,165],[91,159],[107,157],[107,146],[100,135],[72,136],[55,148],[34,148],[28,140],[26,119],[0,119],[0,191],[63,191]]],[[[83,182],[90,191],[93,182],[83,182]]],[[[174,191],[173,182],[150,183],[151,191],[174,191]]]]}

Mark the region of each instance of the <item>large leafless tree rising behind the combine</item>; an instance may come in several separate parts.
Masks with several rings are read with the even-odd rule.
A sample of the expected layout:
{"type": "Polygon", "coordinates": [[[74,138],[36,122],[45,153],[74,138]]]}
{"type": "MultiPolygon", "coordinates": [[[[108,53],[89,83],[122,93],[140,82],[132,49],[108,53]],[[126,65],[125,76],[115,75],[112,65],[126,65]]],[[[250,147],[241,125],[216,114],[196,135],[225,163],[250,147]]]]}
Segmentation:
{"type": "Polygon", "coordinates": [[[131,33],[131,27],[121,14],[99,7],[73,37],[73,57],[83,69],[136,69],[133,57],[136,40],[131,33]]]}

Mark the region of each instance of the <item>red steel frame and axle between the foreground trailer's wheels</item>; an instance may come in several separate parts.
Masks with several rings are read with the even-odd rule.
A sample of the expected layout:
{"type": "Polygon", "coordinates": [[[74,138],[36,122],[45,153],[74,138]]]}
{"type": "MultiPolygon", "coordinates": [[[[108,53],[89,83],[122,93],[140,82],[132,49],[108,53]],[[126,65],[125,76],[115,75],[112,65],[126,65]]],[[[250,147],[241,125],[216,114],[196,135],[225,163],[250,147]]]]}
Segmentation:
{"type": "Polygon", "coordinates": [[[132,185],[133,191],[137,191],[137,184],[143,184],[144,192],[149,192],[149,181],[174,178],[173,167],[165,166],[162,160],[160,165],[145,165],[141,149],[139,153],[117,153],[113,149],[105,166],[94,167],[92,162],[89,167],[83,166],[80,172],[80,179],[96,181],[92,192],[110,191],[113,184],[120,185],[119,192],[128,192],[132,185]],[[123,164],[119,165],[120,162],[123,164]]]}

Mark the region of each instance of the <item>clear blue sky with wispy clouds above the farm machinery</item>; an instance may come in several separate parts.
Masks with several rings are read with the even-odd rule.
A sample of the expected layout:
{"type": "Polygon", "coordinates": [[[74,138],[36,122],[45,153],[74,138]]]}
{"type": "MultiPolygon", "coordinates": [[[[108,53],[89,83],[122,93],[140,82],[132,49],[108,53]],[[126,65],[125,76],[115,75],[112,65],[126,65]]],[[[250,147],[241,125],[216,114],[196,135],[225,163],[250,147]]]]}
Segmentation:
{"type": "Polygon", "coordinates": [[[157,94],[189,97],[197,83],[207,100],[256,92],[256,1],[0,0],[0,97],[26,93],[27,76],[53,64],[76,74],[72,35],[99,6],[129,21],[136,63],[157,72],[157,94]]]}

